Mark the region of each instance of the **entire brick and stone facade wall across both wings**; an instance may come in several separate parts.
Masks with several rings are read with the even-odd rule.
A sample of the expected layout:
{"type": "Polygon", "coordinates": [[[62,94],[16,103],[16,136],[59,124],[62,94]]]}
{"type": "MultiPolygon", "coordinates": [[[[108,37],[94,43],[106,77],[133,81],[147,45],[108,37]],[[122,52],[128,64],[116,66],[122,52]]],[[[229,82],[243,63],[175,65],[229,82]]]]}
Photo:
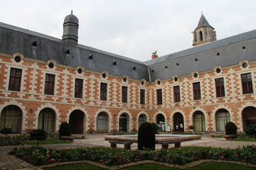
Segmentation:
{"type": "MultiPolygon", "coordinates": [[[[159,80],[151,84],[116,77],[107,72],[92,72],[56,64],[55,61],[31,60],[22,54],[6,55],[0,53],[0,111],[6,106],[14,105],[22,111],[22,130],[38,128],[38,115],[43,108],[55,111],[55,130],[60,123],[68,122],[73,111],[84,113],[83,133],[95,132],[97,115],[105,112],[108,115],[108,132],[119,130],[119,117],[126,113],[129,117],[129,129],[138,130],[139,115],[146,115],[146,120],[156,122],[159,113],[164,115],[165,125],[174,130],[174,114],[181,113],[184,130],[193,125],[193,114],[201,111],[206,118],[206,131],[216,131],[215,114],[219,109],[230,113],[230,120],[243,131],[242,111],[248,106],[256,107],[256,61],[241,61],[229,67],[215,67],[206,72],[192,72],[189,75],[174,79],[159,80]],[[21,57],[16,62],[14,57],[21,57]],[[48,63],[54,67],[50,69],[48,63]],[[247,67],[243,68],[242,63],[247,67]],[[21,91],[9,91],[10,69],[22,69],[21,91]],[[220,73],[216,69],[221,69],[220,73]],[[55,74],[54,95],[44,94],[46,73],[55,74]],[[107,77],[103,78],[105,73],[107,77]],[[197,73],[198,77],[193,77],[197,73]],[[242,94],[241,74],[252,74],[253,94],[242,94]],[[225,97],[216,97],[215,79],[224,78],[225,97]],[[83,79],[82,98],[75,98],[75,78],[83,79]],[[160,84],[158,83],[160,81],[160,84]],[[193,100],[193,83],[201,84],[201,100],[193,100]],[[107,84],[107,101],[100,101],[100,83],[107,84]],[[122,103],[122,86],[128,87],[127,103],[122,103]],[[181,102],[174,103],[174,86],[180,86],[181,102]],[[145,104],[140,104],[140,89],[145,90],[145,104]],[[156,104],[156,89],[162,89],[163,103],[156,104]]],[[[255,113],[256,114],[256,113],[255,113]]]]}

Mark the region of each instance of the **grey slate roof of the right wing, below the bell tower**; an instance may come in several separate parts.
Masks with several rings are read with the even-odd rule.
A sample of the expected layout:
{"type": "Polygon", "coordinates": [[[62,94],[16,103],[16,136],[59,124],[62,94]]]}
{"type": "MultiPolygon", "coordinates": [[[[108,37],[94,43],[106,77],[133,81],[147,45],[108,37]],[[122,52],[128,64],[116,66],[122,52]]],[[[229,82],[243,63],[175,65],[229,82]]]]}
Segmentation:
{"type": "MultiPolygon", "coordinates": [[[[188,50],[149,60],[151,81],[181,77],[193,71],[203,72],[215,66],[227,67],[242,60],[256,59],[256,30],[216,40],[188,50]],[[245,49],[244,49],[245,48],[245,49]],[[154,70],[154,72],[152,72],[154,70]]],[[[200,76],[200,74],[199,74],[200,76]]]]}

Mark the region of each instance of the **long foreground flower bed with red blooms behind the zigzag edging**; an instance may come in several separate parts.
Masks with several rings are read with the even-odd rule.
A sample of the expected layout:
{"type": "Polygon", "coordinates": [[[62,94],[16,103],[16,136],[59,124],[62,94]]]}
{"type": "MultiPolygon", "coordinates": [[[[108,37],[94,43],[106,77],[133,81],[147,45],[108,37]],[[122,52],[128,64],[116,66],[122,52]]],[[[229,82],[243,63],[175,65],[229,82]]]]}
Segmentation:
{"type": "Polygon", "coordinates": [[[124,151],[114,152],[112,149],[46,149],[44,147],[16,147],[10,153],[16,157],[25,160],[33,165],[46,165],[55,162],[70,162],[89,160],[106,164],[109,166],[116,166],[121,164],[128,164],[130,162],[139,162],[143,160],[154,160],[156,162],[166,162],[169,164],[188,164],[202,159],[226,160],[247,162],[256,164],[256,148],[255,145],[238,147],[237,149],[214,149],[196,147],[195,149],[188,149],[181,152],[171,153],[169,149],[160,149],[156,151],[124,151]]]}

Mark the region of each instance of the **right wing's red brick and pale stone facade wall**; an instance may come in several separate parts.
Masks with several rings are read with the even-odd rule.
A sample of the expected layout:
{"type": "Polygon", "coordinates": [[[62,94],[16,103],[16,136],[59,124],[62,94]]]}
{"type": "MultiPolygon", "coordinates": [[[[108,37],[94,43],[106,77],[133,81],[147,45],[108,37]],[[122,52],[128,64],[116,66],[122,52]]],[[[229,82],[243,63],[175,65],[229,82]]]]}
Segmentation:
{"type": "MultiPolygon", "coordinates": [[[[216,131],[215,114],[219,109],[224,108],[230,113],[230,120],[238,126],[239,131],[243,131],[242,111],[252,106],[256,108],[256,62],[241,61],[239,64],[229,67],[215,67],[206,72],[192,72],[190,75],[178,77],[178,81],[168,79],[157,81],[152,84],[151,96],[153,98],[153,119],[156,121],[156,115],[161,113],[166,118],[166,125],[171,125],[174,130],[174,114],[181,113],[184,119],[184,129],[193,125],[193,113],[202,111],[206,118],[206,131],[216,131]],[[242,63],[246,62],[248,66],[242,68],[242,63]],[[221,72],[217,73],[216,69],[221,72]],[[193,77],[197,73],[198,77],[193,77]],[[241,74],[252,74],[252,94],[242,94],[241,74]],[[215,79],[224,78],[225,97],[216,97],[215,79]],[[200,82],[201,100],[193,100],[193,83],[200,82]],[[180,86],[181,102],[174,103],[174,86],[180,86]],[[156,89],[163,91],[163,104],[156,105],[156,89]]],[[[256,112],[254,113],[255,116],[256,112]]]]}

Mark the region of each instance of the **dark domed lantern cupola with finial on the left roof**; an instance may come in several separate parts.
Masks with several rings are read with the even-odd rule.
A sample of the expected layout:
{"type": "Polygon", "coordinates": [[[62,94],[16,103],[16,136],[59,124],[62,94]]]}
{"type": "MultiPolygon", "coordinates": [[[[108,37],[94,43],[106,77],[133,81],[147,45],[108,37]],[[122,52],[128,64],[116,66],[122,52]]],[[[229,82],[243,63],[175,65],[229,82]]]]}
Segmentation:
{"type": "Polygon", "coordinates": [[[71,14],[66,16],[63,23],[63,40],[74,45],[78,44],[78,18],[71,14]]]}

